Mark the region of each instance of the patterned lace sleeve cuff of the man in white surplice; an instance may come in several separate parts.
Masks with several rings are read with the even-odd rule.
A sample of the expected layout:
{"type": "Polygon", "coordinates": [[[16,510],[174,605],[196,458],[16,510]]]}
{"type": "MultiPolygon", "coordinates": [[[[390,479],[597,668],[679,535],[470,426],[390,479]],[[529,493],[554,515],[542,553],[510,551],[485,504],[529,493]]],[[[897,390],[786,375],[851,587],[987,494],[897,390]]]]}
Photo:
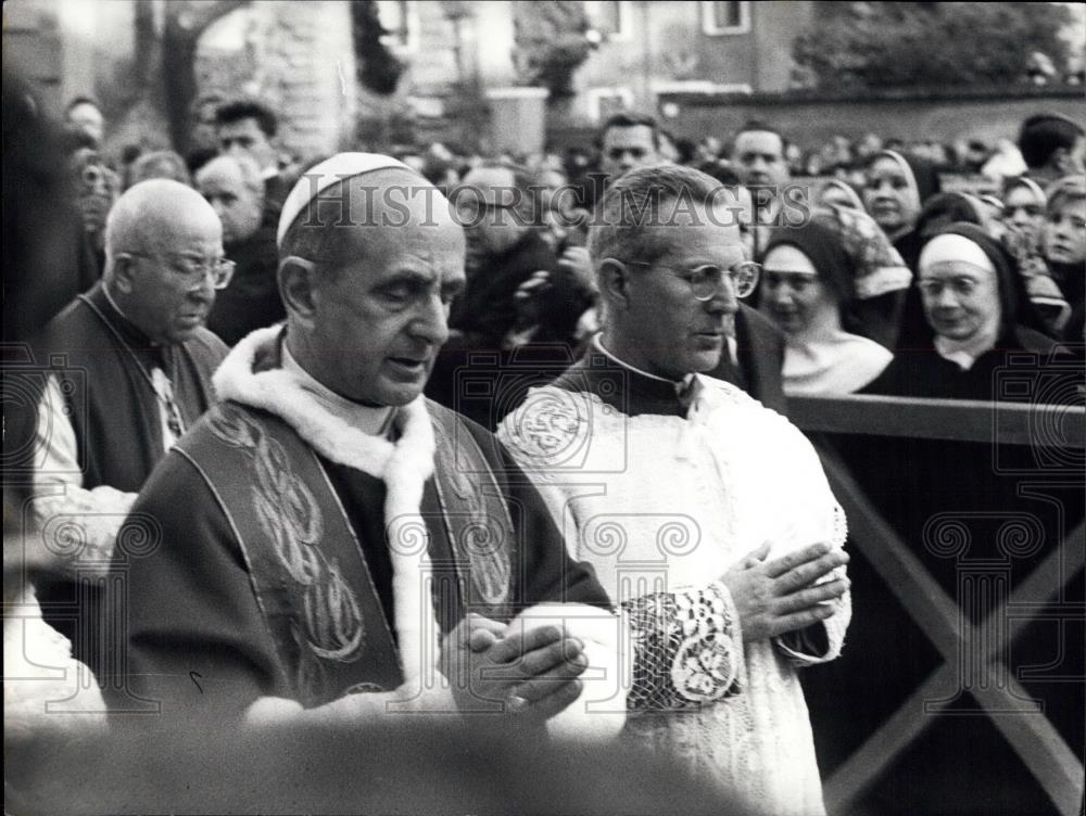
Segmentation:
{"type": "Polygon", "coordinates": [[[697,707],[738,693],[743,638],[722,584],[622,604],[633,639],[632,710],[697,707]]]}

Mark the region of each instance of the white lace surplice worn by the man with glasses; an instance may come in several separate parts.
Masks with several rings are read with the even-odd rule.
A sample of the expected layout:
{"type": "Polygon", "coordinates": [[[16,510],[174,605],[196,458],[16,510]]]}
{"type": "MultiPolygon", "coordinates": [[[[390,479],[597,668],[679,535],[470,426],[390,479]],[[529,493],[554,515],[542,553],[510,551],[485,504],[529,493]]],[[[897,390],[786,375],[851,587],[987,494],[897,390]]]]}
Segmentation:
{"type": "Polygon", "coordinates": [[[640,662],[627,734],[768,814],[822,813],[796,666],[839,653],[848,596],[824,622],[821,648],[796,633],[744,647],[717,579],[765,541],[770,559],[843,545],[844,514],[795,426],[699,379],[689,419],[629,417],[546,386],[498,436],[539,484],[572,554],[626,609],[640,662]]]}

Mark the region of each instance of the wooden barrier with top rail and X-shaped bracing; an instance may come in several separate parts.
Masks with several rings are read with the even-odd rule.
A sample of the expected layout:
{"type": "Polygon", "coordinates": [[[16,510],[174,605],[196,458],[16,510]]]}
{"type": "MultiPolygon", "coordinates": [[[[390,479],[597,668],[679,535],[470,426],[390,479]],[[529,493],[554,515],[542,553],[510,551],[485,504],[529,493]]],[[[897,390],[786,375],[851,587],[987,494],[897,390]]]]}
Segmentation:
{"type": "MultiPolygon", "coordinates": [[[[849,396],[791,399],[790,417],[807,432],[906,436],[1001,445],[1086,448],[1086,408],[1019,403],[849,396]],[[1039,431],[1038,429],[1048,429],[1039,431]],[[1056,432],[1053,433],[1053,429],[1056,432]]],[[[831,814],[851,812],[861,795],[932,724],[960,691],[956,672],[962,655],[980,660],[1002,684],[969,688],[984,712],[1037,779],[1057,811],[1077,814],[1083,801],[1083,765],[1045,716],[1008,715],[1028,696],[999,663],[999,654],[1034,620],[1037,598],[1053,599],[1084,566],[1086,527],[1079,523],[1002,605],[980,625],[968,623],[958,605],[931,576],[912,548],[874,509],[841,459],[820,449],[826,476],[849,520],[850,540],[870,561],[909,616],[923,629],[943,664],[825,781],[831,814]],[[1033,603],[1025,603],[1024,599],[1033,603]],[[1034,614],[1031,614],[1031,610],[1034,614]],[[1000,671],[1002,670],[1002,671],[1000,671]]],[[[1081,473],[1079,473],[1081,475],[1081,473]]],[[[1086,609],[1075,604],[1072,614],[1086,609]]],[[[1082,683],[1082,678],[1077,678],[1082,683]]]]}

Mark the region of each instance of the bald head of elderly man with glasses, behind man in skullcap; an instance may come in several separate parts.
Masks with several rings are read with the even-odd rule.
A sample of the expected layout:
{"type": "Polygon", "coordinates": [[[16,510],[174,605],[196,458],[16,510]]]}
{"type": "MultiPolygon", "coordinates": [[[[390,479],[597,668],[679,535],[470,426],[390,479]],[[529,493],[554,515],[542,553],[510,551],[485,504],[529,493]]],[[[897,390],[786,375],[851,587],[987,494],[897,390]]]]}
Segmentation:
{"type": "Polygon", "coordinates": [[[150,340],[182,343],[206,321],[223,227],[195,190],[168,179],[129,188],[105,221],[105,253],[110,295],[150,340]]]}

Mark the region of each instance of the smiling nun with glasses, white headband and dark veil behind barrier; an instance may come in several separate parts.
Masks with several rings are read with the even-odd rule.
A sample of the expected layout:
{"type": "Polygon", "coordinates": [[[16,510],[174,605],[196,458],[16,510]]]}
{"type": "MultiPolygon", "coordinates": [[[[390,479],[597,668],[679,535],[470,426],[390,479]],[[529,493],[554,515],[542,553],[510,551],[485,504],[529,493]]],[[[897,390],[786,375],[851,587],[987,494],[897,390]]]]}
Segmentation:
{"type": "Polygon", "coordinates": [[[869,393],[993,399],[1008,353],[1055,349],[1013,260],[977,225],[950,225],[924,245],[917,288],[927,340],[899,350],[869,393]]]}

